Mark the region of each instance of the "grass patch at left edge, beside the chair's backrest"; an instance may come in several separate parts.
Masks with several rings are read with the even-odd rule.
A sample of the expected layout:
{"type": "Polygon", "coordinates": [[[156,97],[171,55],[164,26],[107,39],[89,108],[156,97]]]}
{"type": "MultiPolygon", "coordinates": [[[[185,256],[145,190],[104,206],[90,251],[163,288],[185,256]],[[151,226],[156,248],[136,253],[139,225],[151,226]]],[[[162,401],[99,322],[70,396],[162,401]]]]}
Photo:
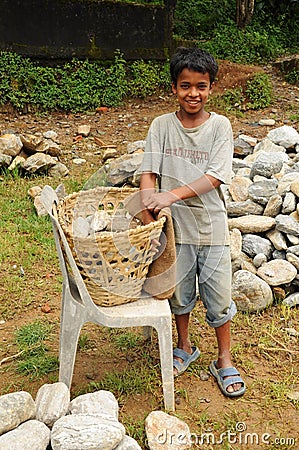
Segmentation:
{"type": "MultiPolygon", "coordinates": [[[[38,184],[43,182],[41,177],[38,184]]],[[[11,174],[0,178],[0,317],[4,319],[61,291],[51,222],[47,216],[37,216],[28,195],[28,189],[36,184],[35,179],[11,174]]]]}

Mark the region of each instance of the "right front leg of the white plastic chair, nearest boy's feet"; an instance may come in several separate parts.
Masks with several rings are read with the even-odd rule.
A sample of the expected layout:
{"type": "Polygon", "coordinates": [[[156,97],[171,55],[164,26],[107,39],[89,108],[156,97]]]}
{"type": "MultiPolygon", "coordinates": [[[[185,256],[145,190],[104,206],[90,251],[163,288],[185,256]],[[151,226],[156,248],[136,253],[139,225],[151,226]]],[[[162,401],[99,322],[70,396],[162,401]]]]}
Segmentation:
{"type": "Polygon", "coordinates": [[[171,319],[165,318],[155,327],[159,339],[161,374],[163,385],[164,406],[166,411],[174,411],[174,379],[173,379],[173,348],[171,319]]]}

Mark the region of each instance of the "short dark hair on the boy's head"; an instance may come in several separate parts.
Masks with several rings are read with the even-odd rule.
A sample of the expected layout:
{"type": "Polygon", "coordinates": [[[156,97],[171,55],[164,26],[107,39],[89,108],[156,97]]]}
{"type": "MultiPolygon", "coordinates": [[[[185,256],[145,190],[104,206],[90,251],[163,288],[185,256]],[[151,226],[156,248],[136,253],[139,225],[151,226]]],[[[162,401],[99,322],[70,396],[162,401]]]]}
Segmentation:
{"type": "Polygon", "coordinates": [[[208,73],[211,84],[215,81],[218,64],[209,52],[198,47],[179,47],[170,61],[171,81],[176,85],[179,74],[184,70],[208,73]]]}

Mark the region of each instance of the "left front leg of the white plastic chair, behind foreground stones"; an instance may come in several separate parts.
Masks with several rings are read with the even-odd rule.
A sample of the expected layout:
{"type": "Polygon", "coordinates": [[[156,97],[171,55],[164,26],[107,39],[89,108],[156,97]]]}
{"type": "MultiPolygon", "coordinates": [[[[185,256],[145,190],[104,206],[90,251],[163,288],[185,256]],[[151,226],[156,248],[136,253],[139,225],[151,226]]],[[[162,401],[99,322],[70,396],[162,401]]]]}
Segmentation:
{"type": "Polygon", "coordinates": [[[70,389],[76,360],[77,344],[83,321],[80,306],[68,287],[63,287],[59,342],[59,381],[70,389]]]}

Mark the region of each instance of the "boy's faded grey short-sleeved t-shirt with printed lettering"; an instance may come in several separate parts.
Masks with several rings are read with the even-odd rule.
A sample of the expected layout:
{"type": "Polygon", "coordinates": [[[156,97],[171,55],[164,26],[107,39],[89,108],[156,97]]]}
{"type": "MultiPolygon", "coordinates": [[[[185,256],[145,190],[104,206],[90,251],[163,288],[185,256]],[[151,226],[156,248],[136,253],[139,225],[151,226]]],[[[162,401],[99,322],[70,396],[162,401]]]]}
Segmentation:
{"type": "MultiPolygon", "coordinates": [[[[196,128],[184,128],[175,113],[153,120],[141,172],[158,176],[161,191],[189,184],[203,174],[229,183],[232,173],[233,133],[225,116],[211,113],[196,128]]],[[[220,188],[181,200],[171,206],[177,243],[228,245],[229,233],[220,188]]]]}

